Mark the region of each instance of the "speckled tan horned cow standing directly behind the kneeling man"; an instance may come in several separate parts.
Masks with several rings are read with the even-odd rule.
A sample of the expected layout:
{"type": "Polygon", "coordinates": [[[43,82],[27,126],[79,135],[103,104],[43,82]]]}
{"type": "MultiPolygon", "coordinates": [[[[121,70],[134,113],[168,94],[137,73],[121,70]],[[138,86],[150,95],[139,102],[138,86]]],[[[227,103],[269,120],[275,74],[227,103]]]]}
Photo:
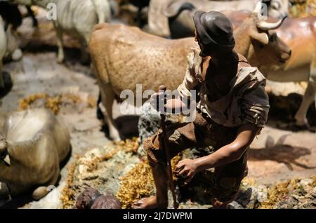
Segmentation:
{"type": "MultiPolygon", "coordinates": [[[[268,30],[279,27],[283,20],[267,24],[252,14],[240,32],[235,32],[237,50],[258,67],[279,66],[291,54],[289,47],[268,30]],[[265,55],[263,57],[263,55],[265,55]]],[[[165,84],[176,89],[183,81],[187,53],[197,46],[193,38],[170,40],[140,31],[137,27],[100,24],[91,35],[90,51],[102,103],[107,112],[110,137],[119,140],[112,118],[112,104],[122,90],[136,93],[136,84],[143,90],[158,90],[165,84]]],[[[136,94],[134,94],[136,95],[136,94]]]]}

